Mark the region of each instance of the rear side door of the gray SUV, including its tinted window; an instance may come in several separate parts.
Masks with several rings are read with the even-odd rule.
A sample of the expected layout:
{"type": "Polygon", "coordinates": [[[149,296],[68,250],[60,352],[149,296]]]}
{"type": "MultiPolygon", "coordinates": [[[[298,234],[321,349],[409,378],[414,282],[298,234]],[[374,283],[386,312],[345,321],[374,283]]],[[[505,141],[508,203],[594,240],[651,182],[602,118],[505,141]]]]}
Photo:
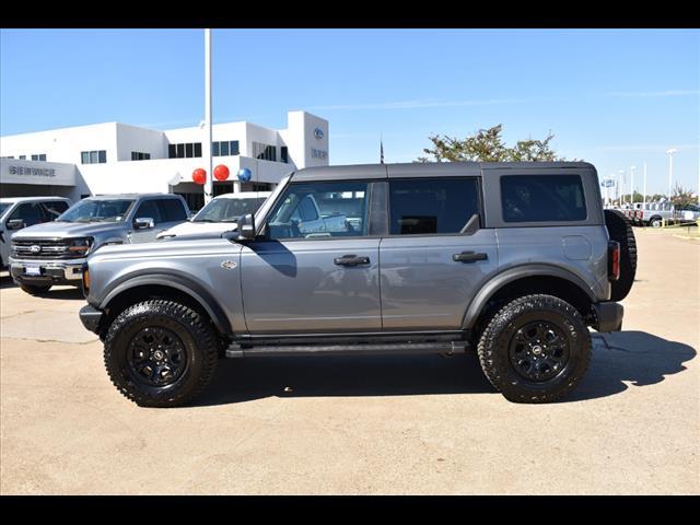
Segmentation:
{"type": "Polygon", "coordinates": [[[459,329],[470,300],[498,270],[478,172],[455,166],[444,177],[434,170],[388,167],[389,228],[380,245],[385,330],[459,329]]]}

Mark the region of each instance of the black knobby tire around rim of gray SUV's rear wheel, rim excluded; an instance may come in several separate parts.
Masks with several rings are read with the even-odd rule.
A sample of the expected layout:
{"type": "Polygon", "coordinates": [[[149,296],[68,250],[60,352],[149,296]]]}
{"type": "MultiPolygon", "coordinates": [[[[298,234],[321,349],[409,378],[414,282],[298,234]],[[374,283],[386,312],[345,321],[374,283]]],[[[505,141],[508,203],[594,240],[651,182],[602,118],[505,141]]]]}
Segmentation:
{"type": "Polygon", "coordinates": [[[581,381],[591,361],[591,332],[571,304],[552,295],[526,295],[503,306],[485,328],[477,347],[481,370],[489,382],[510,401],[550,402],[581,381]],[[555,325],[565,336],[569,357],[550,380],[523,377],[511,361],[510,346],[515,334],[533,322],[555,325]]]}

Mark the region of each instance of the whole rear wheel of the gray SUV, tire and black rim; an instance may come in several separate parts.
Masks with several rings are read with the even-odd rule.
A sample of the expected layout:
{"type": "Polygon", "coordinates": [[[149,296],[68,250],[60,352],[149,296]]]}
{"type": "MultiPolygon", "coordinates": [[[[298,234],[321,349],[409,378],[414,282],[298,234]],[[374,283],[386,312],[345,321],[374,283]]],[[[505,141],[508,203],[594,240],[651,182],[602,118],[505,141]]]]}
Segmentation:
{"type": "Polygon", "coordinates": [[[481,370],[514,402],[548,402],[573,389],[591,361],[591,332],[581,314],[552,295],[510,302],[477,347],[481,370]]]}

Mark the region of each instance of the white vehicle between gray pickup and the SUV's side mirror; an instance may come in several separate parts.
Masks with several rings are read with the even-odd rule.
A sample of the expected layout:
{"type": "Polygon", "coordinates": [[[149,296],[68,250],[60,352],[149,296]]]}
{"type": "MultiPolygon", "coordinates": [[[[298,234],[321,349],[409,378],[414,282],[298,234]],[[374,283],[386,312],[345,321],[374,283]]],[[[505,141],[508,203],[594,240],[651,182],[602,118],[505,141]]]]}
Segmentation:
{"type": "Polygon", "coordinates": [[[182,235],[220,234],[237,228],[241,215],[255,213],[271,191],[240,191],[214,197],[189,221],[158,234],[159,240],[182,235]]]}

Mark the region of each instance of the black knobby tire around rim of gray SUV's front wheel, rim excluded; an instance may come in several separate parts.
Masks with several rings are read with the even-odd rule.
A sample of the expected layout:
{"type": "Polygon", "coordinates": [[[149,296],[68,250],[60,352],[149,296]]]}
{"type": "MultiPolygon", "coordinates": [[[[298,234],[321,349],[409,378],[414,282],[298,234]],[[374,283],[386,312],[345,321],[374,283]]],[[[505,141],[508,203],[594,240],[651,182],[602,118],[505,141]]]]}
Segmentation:
{"type": "Polygon", "coordinates": [[[219,341],[210,320],[195,310],[166,300],[135,304],[112,323],[105,337],[105,368],[117,389],[141,407],[178,407],[191,401],[209,384],[217,368],[219,341]],[[174,332],[186,353],[186,365],[175,383],[152,386],[129,366],[132,338],[144,328],[174,332]]]}

